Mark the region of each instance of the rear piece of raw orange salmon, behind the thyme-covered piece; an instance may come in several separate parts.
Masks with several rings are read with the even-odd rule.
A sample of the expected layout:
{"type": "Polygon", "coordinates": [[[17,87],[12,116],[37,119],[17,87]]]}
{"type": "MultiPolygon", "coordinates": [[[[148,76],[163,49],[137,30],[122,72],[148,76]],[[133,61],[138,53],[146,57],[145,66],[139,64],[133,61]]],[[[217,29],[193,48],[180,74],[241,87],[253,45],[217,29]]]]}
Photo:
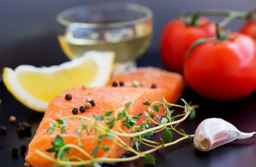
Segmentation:
{"type": "MultiPolygon", "coordinates": [[[[125,87],[133,87],[133,81],[138,81],[139,83],[145,82],[145,88],[151,88],[151,85],[155,83],[157,89],[161,90],[161,96],[164,95],[165,99],[169,99],[169,102],[175,102],[177,100],[184,86],[183,78],[178,73],[155,67],[141,67],[115,74],[115,76],[110,78],[108,85],[111,86],[113,81],[124,81],[125,87]],[[166,89],[168,89],[167,92],[166,89]]],[[[138,86],[138,88],[141,88],[141,86],[138,86]]],[[[162,100],[162,97],[155,101],[157,100],[162,100]]]]}

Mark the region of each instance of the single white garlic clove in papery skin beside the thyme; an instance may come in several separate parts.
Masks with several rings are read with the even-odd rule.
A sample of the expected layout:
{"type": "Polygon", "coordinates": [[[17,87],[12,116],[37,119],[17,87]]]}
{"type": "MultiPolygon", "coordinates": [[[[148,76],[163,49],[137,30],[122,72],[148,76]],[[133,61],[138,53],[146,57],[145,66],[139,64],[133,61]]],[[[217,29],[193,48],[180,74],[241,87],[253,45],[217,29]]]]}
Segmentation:
{"type": "Polygon", "coordinates": [[[255,132],[240,132],[234,125],[220,118],[209,118],[202,121],[194,136],[194,146],[196,149],[208,152],[236,139],[247,139],[255,132]]]}

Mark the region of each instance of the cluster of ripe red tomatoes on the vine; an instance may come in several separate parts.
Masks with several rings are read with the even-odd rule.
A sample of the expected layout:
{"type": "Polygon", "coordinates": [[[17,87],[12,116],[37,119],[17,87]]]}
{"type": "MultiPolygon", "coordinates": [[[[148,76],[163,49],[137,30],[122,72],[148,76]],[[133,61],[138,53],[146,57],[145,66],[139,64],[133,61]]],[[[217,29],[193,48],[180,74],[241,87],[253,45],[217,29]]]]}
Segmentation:
{"type": "Polygon", "coordinates": [[[198,15],[172,20],[161,34],[161,59],[201,96],[240,99],[256,89],[256,21],[233,33],[218,25],[198,15]]]}

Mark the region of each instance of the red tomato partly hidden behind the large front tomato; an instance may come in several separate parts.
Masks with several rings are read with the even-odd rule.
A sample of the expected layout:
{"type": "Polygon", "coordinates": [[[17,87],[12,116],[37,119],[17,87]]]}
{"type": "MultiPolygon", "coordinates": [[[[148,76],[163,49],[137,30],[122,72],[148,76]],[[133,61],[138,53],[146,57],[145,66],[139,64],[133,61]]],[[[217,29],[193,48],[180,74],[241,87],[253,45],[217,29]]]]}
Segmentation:
{"type": "Polygon", "coordinates": [[[190,45],[200,38],[216,36],[215,24],[200,18],[199,26],[190,26],[180,19],[169,22],[163,29],[160,53],[164,66],[169,71],[183,73],[184,54],[190,45]]]}

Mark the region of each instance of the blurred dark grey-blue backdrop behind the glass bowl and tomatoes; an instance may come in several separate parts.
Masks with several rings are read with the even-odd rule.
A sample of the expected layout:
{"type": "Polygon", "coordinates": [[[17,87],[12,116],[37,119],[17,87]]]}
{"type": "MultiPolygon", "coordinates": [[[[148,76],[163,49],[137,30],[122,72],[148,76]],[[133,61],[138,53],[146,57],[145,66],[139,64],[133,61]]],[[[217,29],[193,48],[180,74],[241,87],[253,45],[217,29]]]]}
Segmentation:
{"type": "MultiPolygon", "coordinates": [[[[70,7],[100,2],[146,5],[154,12],[152,45],[138,64],[160,66],[158,43],[161,29],[178,10],[248,10],[255,0],[0,0],[0,68],[20,64],[49,66],[68,59],[56,39],[56,15],[70,7]],[[40,61],[38,61],[40,59],[40,61]],[[141,63],[143,62],[143,63],[141,63]]],[[[238,30],[242,21],[230,28],[238,30]]]]}

